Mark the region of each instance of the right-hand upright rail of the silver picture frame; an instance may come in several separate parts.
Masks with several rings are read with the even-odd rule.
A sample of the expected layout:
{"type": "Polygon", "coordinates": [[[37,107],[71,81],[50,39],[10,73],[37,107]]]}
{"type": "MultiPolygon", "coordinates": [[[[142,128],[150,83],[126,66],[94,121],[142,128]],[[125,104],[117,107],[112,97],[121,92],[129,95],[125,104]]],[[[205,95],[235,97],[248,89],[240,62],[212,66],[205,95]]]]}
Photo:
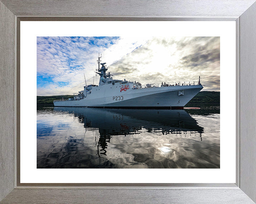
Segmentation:
{"type": "Polygon", "coordinates": [[[240,188],[256,201],[256,4],[240,21],[240,188]]]}

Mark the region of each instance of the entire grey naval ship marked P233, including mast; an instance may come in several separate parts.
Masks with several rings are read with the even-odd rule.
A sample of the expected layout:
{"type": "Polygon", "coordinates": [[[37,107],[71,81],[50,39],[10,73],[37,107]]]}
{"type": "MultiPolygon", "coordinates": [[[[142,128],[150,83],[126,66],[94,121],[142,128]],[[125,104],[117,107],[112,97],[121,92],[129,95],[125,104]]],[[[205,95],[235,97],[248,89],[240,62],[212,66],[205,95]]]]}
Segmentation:
{"type": "Polygon", "coordinates": [[[96,73],[100,75],[98,85],[86,85],[73,98],[53,101],[54,106],[177,109],[183,108],[203,89],[200,76],[198,83],[182,81],[162,83],[161,86],[146,84],[144,87],[138,82],[113,79],[113,75],[107,72],[106,63],[100,63],[100,58],[99,56],[96,69],[96,73]]]}

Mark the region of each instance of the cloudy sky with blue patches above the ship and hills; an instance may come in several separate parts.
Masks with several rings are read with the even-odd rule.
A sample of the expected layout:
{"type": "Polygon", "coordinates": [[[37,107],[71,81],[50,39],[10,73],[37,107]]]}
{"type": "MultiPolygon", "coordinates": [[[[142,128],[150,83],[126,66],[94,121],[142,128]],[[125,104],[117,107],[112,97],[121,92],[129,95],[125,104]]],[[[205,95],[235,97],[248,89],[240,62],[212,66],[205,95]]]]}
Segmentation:
{"type": "Polygon", "coordinates": [[[37,37],[37,95],[81,91],[84,74],[98,84],[98,53],[113,79],[160,85],[200,75],[203,91],[219,91],[219,37],[37,37]]]}

